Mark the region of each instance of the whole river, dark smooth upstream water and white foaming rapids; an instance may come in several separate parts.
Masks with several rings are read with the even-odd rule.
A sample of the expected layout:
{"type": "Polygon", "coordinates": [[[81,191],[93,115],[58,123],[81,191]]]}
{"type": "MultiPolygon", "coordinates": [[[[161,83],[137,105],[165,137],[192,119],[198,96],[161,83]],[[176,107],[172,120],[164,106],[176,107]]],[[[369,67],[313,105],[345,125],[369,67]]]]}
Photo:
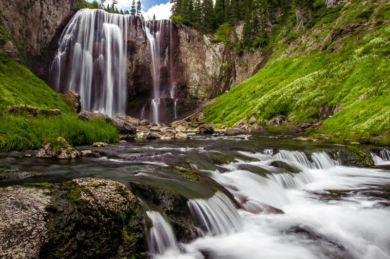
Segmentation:
{"type": "Polygon", "coordinates": [[[152,223],[148,239],[154,258],[390,258],[386,149],[373,155],[374,168],[357,168],[345,166],[336,145],[272,136],[191,137],[118,143],[100,148],[105,157],[74,161],[24,157],[32,151],[2,153],[0,186],[94,176],[129,187],[131,182],[158,183],[185,193],[199,222],[199,237],[186,243],[177,242],[163,213],[140,201],[152,223]],[[239,206],[221,192],[209,194],[192,185],[169,165],[211,176],[239,206]]]}

